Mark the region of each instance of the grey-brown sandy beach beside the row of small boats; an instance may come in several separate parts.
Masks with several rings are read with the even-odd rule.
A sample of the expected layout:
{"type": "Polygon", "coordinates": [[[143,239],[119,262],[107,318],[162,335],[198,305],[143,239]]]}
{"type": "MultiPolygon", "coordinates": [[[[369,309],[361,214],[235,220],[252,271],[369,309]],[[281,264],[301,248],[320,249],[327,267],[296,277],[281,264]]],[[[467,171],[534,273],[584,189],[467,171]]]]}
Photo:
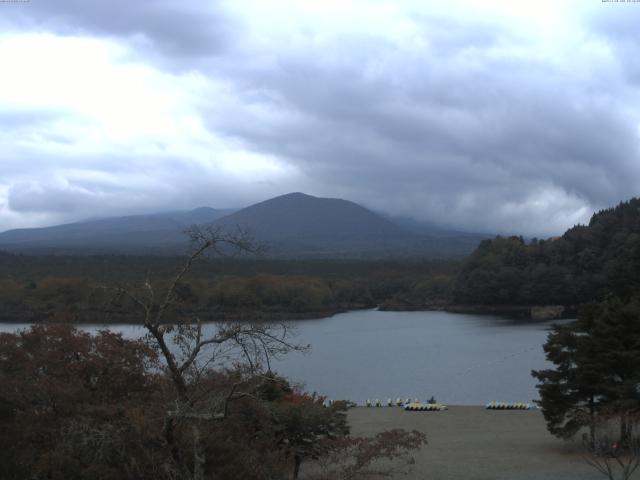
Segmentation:
{"type": "MultiPolygon", "coordinates": [[[[428,480],[604,479],[580,456],[576,444],[551,436],[540,411],[450,407],[443,412],[359,407],[349,411],[354,435],[391,428],[416,429],[429,444],[403,478],[428,480]]],[[[633,478],[640,479],[640,473],[633,478]]]]}

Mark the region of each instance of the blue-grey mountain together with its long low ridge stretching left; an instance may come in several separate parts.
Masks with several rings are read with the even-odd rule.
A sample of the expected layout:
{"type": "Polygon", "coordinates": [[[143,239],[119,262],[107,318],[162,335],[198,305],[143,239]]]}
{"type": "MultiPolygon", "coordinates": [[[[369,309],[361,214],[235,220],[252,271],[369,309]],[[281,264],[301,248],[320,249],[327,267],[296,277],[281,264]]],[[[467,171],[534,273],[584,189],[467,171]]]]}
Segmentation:
{"type": "MultiPolygon", "coordinates": [[[[481,240],[459,232],[403,228],[357,203],[290,193],[241,210],[203,207],[0,233],[0,249],[26,253],[181,253],[193,224],[242,229],[286,258],[462,257],[481,240]]],[[[484,237],[482,237],[484,238],[484,237]]]]}

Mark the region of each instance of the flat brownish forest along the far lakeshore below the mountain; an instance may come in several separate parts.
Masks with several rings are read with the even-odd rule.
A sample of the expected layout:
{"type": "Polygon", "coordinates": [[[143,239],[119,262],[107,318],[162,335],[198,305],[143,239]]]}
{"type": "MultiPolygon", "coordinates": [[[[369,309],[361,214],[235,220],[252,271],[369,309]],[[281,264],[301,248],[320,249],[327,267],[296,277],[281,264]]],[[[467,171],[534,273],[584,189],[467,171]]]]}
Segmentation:
{"type": "MultiPolygon", "coordinates": [[[[158,288],[183,258],[0,254],[0,321],[135,322],[119,287],[158,288]]],[[[339,311],[443,306],[453,261],[207,258],[180,285],[179,308],[203,319],[272,320],[339,311]]]]}

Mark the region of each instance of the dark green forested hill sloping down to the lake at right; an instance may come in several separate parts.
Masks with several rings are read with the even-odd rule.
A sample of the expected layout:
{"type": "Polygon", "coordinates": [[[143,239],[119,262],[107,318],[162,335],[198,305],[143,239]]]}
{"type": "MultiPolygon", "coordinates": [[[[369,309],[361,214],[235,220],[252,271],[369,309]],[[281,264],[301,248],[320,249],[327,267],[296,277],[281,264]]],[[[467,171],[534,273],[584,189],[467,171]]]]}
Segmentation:
{"type": "Polygon", "coordinates": [[[577,306],[640,287],[640,199],[594,214],[547,240],[497,237],[464,262],[453,301],[479,305],[577,306]]]}

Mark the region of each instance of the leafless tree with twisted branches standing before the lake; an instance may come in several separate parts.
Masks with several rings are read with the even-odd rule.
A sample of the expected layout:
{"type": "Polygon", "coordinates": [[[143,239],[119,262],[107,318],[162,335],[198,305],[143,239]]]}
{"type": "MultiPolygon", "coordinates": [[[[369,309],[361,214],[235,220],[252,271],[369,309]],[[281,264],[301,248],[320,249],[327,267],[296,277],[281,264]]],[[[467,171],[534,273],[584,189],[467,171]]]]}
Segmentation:
{"type": "Polygon", "coordinates": [[[187,233],[192,252],[162,294],[156,292],[149,278],[142,288],[119,287],[117,293],[129,298],[140,309],[148,338],[160,351],[171,379],[176,400],[165,418],[164,437],[173,459],[184,478],[202,480],[206,464],[203,425],[223,420],[233,400],[252,396],[242,388],[243,385],[249,378],[270,372],[272,358],[308,347],[291,343],[291,332],[285,324],[203,324],[198,314],[176,309],[182,282],[196,261],[209,254],[255,255],[262,250],[241,231],[229,234],[220,228],[206,226],[193,227],[187,233]],[[228,366],[235,366],[240,372],[240,378],[233,384],[212,389],[209,383],[202,381],[215,368],[228,366]],[[191,468],[177,444],[178,421],[187,422],[191,428],[194,445],[191,468]]]}

